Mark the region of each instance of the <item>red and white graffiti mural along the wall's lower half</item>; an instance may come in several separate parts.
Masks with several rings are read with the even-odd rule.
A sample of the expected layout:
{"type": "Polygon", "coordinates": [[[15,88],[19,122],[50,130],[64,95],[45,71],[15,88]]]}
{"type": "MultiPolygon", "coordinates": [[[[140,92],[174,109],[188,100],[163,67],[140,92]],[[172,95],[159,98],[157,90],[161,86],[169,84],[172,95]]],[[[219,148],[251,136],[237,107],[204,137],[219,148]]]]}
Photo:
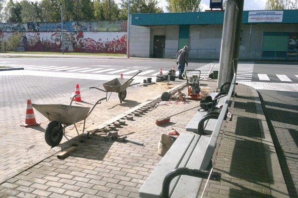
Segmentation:
{"type": "MultiPolygon", "coordinates": [[[[61,31],[21,34],[19,47],[25,51],[59,52],[62,49],[61,31]]],[[[11,32],[0,32],[0,39],[7,42],[11,35],[11,32]]],[[[63,32],[65,52],[126,53],[126,44],[126,32],[63,32]]]]}

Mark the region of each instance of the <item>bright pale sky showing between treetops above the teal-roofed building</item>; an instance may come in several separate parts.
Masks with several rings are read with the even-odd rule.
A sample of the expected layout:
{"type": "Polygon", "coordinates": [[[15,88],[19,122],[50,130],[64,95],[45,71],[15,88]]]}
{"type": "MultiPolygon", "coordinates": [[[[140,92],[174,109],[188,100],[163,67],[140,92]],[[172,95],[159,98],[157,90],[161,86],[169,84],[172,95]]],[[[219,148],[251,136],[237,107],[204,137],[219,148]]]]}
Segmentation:
{"type": "MultiPolygon", "coordinates": [[[[165,6],[167,6],[166,0],[157,0],[159,1],[159,6],[163,7],[163,11],[167,12],[165,6]]],[[[243,10],[264,10],[266,0],[244,0],[243,10]]],[[[201,0],[201,6],[205,9],[210,10],[209,8],[210,0],[201,0]]]]}

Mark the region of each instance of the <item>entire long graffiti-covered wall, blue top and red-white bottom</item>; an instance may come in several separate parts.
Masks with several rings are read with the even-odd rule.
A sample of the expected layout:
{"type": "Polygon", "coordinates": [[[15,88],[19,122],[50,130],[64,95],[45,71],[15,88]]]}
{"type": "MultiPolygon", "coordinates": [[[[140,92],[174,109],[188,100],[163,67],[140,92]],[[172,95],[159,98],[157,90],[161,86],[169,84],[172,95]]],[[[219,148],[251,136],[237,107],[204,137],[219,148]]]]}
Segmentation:
{"type": "Polygon", "coordinates": [[[126,31],[127,21],[64,22],[63,36],[61,23],[0,23],[0,42],[17,35],[24,51],[126,53],[126,31]]]}

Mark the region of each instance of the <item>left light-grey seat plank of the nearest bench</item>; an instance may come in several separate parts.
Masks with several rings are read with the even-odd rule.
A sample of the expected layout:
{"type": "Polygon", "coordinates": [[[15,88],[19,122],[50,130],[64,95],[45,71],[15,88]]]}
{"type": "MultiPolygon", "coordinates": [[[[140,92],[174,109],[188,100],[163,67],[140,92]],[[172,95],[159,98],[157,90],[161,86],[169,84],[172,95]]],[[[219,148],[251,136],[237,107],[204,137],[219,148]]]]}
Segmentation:
{"type": "Polygon", "coordinates": [[[193,133],[182,133],[179,135],[140,188],[139,196],[141,198],[159,198],[161,196],[162,182],[165,176],[178,167],[194,137],[195,134],[193,133]]]}

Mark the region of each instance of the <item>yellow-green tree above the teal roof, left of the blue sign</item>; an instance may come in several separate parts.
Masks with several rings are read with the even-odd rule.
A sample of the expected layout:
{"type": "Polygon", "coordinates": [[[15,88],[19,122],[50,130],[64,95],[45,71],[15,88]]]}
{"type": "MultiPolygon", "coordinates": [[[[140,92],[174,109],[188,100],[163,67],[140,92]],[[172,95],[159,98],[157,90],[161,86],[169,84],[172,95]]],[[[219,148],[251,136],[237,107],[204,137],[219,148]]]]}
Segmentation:
{"type": "Polygon", "coordinates": [[[201,0],[166,0],[169,12],[199,12],[201,0]]]}

